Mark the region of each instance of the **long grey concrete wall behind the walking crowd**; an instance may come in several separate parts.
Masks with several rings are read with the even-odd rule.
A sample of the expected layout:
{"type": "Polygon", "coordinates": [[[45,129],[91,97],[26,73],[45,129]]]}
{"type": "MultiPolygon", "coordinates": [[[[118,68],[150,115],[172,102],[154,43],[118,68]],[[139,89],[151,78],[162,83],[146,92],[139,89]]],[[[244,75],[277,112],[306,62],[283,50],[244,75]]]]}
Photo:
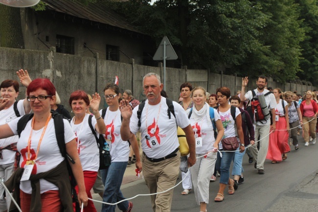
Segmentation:
{"type": "MultiPolygon", "coordinates": [[[[24,69],[29,71],[32,79],[47,77],[55,85],[62,104],[70,111],[68,98],[71,92],[81,89],[88,94],[97,91],[103,95],[103,89],[108,82],[114,82],[119,77],[119,87],[123,92],[126,89],[133,91],[136,99],[145,98],[142,89],[142,78],[148,72],[155,72],[161,76],[163,82],[163,67],[150,67],[135,64],[132,59],[129,64],[100,59],[99,54],[94,57],[74,56],[52,51],[35,51],[0,47],[0,82],[5,79],[18,79],[16,71],[24,69]]],[[[208,88],[207,92],[213,94],[221,85],[230,88],[232,94],[241,90],[241,77],[211,73],[207,70],[189,70],[166,68],[166,92],[169,98],[178,101],[180,85],[191,82],[193,87],[208,88]]],[[[247,90],[254,89],[256,79],[249,79],[247,90]]],[[[269,87],[281,88],[283,91],[297,91],[300,94],[317,87],[278,83],[269,80],[269,87]]],[[[24,98],[25,88],[21,87],[19,98],[24,98]]],[[[101,105],[101,108],[104,105],[101,105]]]]}

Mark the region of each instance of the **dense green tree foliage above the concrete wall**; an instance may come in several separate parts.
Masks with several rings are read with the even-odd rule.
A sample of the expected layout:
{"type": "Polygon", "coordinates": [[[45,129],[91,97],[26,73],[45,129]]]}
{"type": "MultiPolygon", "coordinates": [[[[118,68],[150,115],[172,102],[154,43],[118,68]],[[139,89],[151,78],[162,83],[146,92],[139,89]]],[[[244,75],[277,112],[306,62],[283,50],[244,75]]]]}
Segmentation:
{"type": "Polygon", "coordinates": [[[230,65],[227,74],[266,73],[280,81],[301,71],[306,28],[295,0],[157,0],[153,5],[129,0],[112,7],[157,42],[168,36],[189,68],[230,65]]]}

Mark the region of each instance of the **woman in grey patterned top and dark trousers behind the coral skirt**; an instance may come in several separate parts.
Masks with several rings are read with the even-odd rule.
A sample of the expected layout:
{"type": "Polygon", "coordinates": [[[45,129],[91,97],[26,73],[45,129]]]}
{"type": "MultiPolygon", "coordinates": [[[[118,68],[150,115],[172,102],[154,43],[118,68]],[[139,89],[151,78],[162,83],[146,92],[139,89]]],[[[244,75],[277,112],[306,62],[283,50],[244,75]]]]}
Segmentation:
{"type": "Polygon", "coordinates": [[[289,118],[289,127],[290,127],[290,134],[293,138],[293,145],[295,146],[295,150],[299,149],[298,146],[298,138],[297,138],[297,126],[299,124],[302,125],[302,115],[299,109],[299,105],[296,101],[293,100],[293,93],[286,92],[285,99],[288,103],[288,118],[289,118]]]}

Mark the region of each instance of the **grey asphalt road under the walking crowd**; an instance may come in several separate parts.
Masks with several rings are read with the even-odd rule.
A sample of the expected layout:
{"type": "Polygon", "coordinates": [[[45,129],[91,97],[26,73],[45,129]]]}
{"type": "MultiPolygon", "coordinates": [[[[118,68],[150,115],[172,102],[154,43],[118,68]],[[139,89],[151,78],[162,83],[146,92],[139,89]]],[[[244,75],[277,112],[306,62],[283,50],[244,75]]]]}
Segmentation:
{"type": "MultiPolygon", "coordinates": [[[[306,204],[300,207],[300,211],[318,212],[318,190],[316,189],[318,177],[317,181],[313,180],[318,169],[318,143],[314,145],[310,142],[310,145],[306,147],[301,136],[298,136],[298,139],[299,150],[296,151],[294,146],[291,146],[291,152],[287,154],[286,161],[271,164],[271,161],[266,160],[264,175],[257,173],[257,169],[254,168],[253,163],[248,163],[248,156],[245,155],[243,159],[245,181],[239,185],[233,195],[228,195],[226,189],[223,202],[214,202],[219,189],[219,178],[216,182],[210,183],[207,212],[299,212],[302,203],[306,204]],[[307,185],[306,189],[304,185],[307,185]],[[303,188],[302,192],[299,192],[300,187],[303,188]],[[293,203],[297,204],[293,206],[293,203]]],[[[177,183],[180,180],[181,174],[177,183]]],[[[181,195],[182,190],[182,185],[174,189],[171,211],[199,212],[200,208],[196,205],[194,192],[181,195]]],[[[126,198],[149,193],[143,180],[124,185],[122,192],[126,198]]],[[[96,199],[101,200],[101,198],[96,199]]],[[[152,212],[149,196],[139,196],[131,201],[134,203],[132,212],[152,212]]],[[[98,212],[101,211],[100,203],[95,203],[95,207],[98,212]]],[[[120,212],[118,208],[116,212],[120,212]]]]}

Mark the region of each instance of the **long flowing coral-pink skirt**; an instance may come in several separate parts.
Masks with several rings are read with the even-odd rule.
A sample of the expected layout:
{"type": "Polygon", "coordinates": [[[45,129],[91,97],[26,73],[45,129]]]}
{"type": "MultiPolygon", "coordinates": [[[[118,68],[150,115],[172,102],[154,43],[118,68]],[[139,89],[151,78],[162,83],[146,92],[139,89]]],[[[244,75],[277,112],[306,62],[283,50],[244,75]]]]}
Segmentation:
{"type": "Polygon", "coordinates": [[[278,121],[276,121],[275,132],[270,134],[266,159],[272,161],[282,161],[282,154],[291,151],[291,148],[288,144],[289,135],[286,128],[287,126],[285,117],[279,117],[278,121]]]}

